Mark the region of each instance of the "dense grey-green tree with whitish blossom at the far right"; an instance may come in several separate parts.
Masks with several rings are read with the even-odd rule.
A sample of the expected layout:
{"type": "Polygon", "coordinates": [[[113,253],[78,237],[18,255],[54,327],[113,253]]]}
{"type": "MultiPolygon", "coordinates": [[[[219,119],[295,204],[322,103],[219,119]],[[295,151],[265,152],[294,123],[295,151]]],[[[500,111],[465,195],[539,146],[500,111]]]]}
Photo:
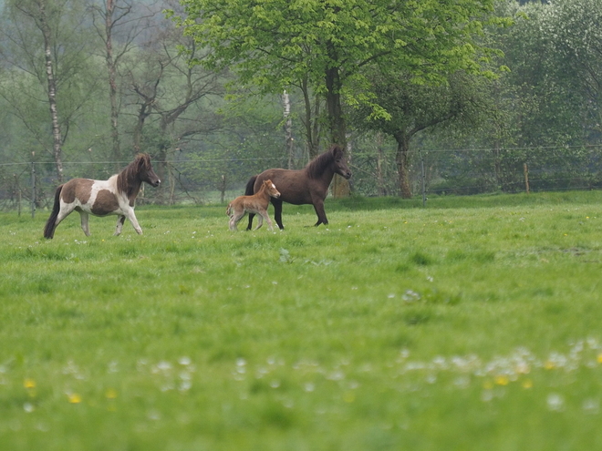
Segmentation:
{"type": "MultiPolygon", "coordinates": [[[[568,51],[566,46],[584,41],[591,45],[596,33],[576,29],[575,22],[561,19],[558,9],[560,5],[581,3],[571,0],[520,6],[510,1],[498,5],[504,8],[503,14],[516,17],[515,25],[492,30],[488,38],[503,50],[503,64],[510,71],[488,89],[490,119],[462,142],[455,141],[462,149],[489,150],[464,152],[459,156],[460,164],[448,173],[466,174],[469,169],[479,169],[472,176],[472,186],[523,190],[526,163],[532,173],[532,188],[566,188],[572,179],[580,183],[578,179],[588,172],[592,161],[582,146],[596,135],[593,130],[599,123],[592,117],[596,114],[595,97],[587,96],[592,91],[581,80],[588,74],[583,67],[595,65],[596,58],[587,57],[579,64],[575,56],[581,52],[568,51]],[[563,35],[565,28],[572,38],[563,35]]],[[[596,8],[587,9],[587,15],[595,16],[596,8]]],[[[585,17],[584,27],[587,29],[585,17]]],[[[458,137],[455,133],[453,138],[458,137]]],[[[450,137],[446,142],[449,146],[450,137]]]]}

